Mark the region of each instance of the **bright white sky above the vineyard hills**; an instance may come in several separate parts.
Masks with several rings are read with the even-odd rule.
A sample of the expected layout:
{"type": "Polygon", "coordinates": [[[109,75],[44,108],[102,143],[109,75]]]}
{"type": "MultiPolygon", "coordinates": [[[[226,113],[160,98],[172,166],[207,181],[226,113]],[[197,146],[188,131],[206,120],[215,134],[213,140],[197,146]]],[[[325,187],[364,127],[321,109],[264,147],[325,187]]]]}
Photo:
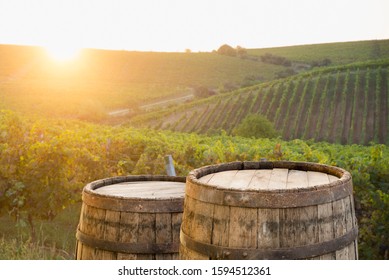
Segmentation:
{"type": "Polygon", "coordinates": [[[0,44],[212,51],[389,39],[389,0],[0,0],[0,44]]]}

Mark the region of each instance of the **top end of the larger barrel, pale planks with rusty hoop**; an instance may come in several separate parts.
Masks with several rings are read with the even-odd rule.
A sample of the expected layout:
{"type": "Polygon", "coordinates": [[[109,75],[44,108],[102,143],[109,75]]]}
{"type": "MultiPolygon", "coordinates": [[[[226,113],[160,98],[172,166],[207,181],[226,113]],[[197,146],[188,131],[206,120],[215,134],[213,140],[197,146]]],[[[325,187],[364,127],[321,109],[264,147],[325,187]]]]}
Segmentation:
{"type": "Polygon", "coordinates": [[[230,162],[189,173],[185,194],[219,205],[287,208],[352,196],[349,172],[310,162],[230,162]]]}

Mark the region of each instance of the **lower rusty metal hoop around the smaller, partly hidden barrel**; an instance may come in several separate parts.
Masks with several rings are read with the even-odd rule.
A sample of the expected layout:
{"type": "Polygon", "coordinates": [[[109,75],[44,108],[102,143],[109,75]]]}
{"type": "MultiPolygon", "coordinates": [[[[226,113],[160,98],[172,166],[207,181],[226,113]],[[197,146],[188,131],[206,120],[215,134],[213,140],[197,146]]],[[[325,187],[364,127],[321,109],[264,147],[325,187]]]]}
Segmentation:
{"type": "Polygon", "coordinates": [[[89,247],[105,250],[109,252],[127,253],[127,254],[174,254],[178,253],[179,243],[123,243],[96,239],[93,236],[82,233],[77,230],[76,238],[78,244],[82,243],[89,247]]]}

